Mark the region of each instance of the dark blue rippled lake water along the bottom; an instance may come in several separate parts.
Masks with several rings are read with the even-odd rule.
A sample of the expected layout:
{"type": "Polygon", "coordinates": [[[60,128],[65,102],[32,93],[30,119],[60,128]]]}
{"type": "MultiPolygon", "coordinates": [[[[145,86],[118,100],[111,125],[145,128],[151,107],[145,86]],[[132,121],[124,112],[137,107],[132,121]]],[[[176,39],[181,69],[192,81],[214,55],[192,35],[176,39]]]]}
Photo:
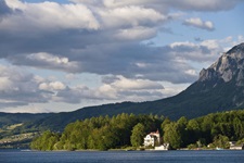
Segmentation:
{"type": "Polygon", "coordinates": [[[0,150],[0,163],[244,163],[244,151],[76,151],[0,150]]]}

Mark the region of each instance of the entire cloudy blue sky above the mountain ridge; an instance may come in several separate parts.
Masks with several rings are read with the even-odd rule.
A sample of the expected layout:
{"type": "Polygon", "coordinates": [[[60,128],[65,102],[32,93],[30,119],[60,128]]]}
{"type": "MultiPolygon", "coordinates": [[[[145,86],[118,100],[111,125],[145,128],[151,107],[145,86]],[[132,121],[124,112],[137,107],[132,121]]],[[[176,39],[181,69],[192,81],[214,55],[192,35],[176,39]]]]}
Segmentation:
{"type": "Polygon", "coordinates": [[[244,0],[0,0],[0,112],[175,96],[244,42],[244,0]]]}

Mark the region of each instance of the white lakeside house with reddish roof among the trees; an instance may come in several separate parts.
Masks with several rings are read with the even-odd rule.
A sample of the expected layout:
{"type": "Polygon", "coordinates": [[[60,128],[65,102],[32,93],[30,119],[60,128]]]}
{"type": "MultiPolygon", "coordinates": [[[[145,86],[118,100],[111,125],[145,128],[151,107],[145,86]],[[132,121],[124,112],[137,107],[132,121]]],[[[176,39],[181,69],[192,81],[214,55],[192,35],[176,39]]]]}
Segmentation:
{"type": "Polygon", "coordinates": [[[144,147],[156,147],[160,145],[159,131],[150,133],[144,138],[144,147]]]}

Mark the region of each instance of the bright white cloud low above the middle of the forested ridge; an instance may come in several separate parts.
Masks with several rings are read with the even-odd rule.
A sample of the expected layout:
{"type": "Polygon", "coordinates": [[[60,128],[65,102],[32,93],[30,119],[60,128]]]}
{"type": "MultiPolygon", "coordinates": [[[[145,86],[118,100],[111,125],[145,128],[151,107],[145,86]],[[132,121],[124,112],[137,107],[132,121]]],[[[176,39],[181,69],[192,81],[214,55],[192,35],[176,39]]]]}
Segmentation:
{"type": "Polygon", "coordinates": [[[99,88],[100,93],[117,101],[156,100],[164,97],[163,90],[163,85],[157,82],[129,79],[124,76],[106,76],[99,88]]]}

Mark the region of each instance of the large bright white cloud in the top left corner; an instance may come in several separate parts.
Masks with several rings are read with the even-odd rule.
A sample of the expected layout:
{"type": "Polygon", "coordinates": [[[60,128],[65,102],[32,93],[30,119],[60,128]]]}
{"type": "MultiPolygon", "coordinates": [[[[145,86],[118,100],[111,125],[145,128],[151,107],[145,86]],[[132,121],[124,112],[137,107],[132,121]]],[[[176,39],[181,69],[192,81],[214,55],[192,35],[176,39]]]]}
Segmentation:
{"type": "Polygon", "coordinates": [[[84,4],[59,4],[49,1],[26,3],[18,0],[7,0],[7,4],[15,12],[2,20],[0,29],[4,30],[41,29],[47,33],[59,29],[95,30],[100,27],[93,13],[84,4]]]}

